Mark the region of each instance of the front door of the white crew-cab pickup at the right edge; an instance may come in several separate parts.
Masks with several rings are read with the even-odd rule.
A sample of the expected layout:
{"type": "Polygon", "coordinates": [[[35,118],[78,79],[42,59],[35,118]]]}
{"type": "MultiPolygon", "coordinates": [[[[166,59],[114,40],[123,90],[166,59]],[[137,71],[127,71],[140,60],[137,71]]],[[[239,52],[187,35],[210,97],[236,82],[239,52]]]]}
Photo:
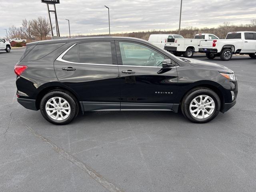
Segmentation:
{"type": "Polygon", "coordinates": [[[253,33],[253,32],[244,33],[244,45],[241,52],[255,53],[255,49],[256,49],[256,39],[254,38],[255,35],[256,33],[253,33]]]}

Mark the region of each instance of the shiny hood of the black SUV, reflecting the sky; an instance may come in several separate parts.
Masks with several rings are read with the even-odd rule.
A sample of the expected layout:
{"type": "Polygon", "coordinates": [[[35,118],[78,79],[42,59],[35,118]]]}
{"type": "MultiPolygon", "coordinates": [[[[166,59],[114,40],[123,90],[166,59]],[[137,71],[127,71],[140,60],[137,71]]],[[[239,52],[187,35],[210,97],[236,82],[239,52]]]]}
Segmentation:
{"type": "Polygon", "coordinates": [[[232,71],[231,69],[229,69],[225,66],[216,64],[216,63],[200,61],[200,60],[191,59],[191,58],[182,58],[182,57],[180,57],[180,59],[182,59],[185,62],[189,61],[188,63],[192,66],[196,66],[196,67],[200,66],[202,68],[215,69],[215,70],[218,70],[219,72],[224,72],[224,73],[228,73],[228,74],[234,73],[234,71],[232,71]]]}

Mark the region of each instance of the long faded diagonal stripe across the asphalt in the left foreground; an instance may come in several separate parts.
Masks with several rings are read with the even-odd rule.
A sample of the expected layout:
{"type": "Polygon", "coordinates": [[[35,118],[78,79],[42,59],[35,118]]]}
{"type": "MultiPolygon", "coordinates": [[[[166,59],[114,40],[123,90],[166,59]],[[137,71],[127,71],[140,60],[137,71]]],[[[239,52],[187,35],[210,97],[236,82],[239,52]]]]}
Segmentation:
{"type": "Polygon", "coordinates": [[[100,175],[98,172],[93,170],[90,166],[86,165],[84,162],[80,161],[78,158],[64,151],[62,148],[54,144],[51,140],[45,138],[44,136],[36,132],[33,128],[27,126],[26,124],[24,125],[26,126],[26,128],[29,130],[31,134],[33,134],[37,138],[40,138],[43,142],[46,142],[55,152],[57,152],[58,154],[60,154],[61,156],[63,156],[64,158],[66,158],[76,166],[78,166],[80,169],[86,172],[91,178],[96,180],[96,182],[98,182],[104,188],[106,188],[110,192],[124,192],[123,190],[120,190],[117,186],[115,186],[113,183],[106,180],[102,175],[100,175]]]}

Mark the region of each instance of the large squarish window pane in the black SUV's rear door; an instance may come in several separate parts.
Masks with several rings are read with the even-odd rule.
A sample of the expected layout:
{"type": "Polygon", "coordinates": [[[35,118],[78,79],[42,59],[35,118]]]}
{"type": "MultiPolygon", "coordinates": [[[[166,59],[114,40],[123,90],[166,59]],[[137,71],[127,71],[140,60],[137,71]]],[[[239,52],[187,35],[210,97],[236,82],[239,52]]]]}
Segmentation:
{"type": "Polygon", "coordinates": [[[79,44],[80,63],[112,65],[111,42],[86,42],[79,44]]]}

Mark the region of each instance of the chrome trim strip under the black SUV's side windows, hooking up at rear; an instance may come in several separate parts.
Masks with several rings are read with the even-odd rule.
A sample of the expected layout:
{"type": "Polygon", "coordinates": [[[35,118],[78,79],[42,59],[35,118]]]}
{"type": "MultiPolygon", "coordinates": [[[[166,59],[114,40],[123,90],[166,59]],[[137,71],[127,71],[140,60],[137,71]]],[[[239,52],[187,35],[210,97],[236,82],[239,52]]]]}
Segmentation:
{"type": "MultiPolygon", "coordinates": [[[[77,63],[77,62],[71,62],[71,61],[67,61],[62,59],[64,57],[64,55],[70,50],[72,49],[76,44],[70,46],[66,51],[64,51],[60,56],[58,56],[58,58],[56,59],[57,61],[60,62],[64,62],[64,63],[71,63],[71,64],[86,64],[86,65],[103,65],[103,66],[124,66],[124,67],[148,67],[148,68],[162,68],[162,67],[158,67],[158,66],[134,66],[134,65],[114,65],[114,64],[96,64],[96,63],[77,63]]],[[[175,67],[170,67],[170,68],[178,68],[179,66],[175,66],[175,67]]]]}

